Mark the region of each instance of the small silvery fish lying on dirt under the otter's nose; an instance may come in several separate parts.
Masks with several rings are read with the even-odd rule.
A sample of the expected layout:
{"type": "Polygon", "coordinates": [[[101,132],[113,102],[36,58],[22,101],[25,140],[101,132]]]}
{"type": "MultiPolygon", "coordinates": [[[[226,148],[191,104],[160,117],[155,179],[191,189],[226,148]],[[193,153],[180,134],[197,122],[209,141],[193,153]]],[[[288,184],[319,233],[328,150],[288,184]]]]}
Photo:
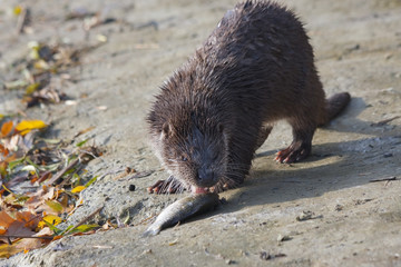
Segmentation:
{"type": "Polygon", "coordinates": [[[143,237],[156,236],[163,229],[174,226],[194,215],[211,210],[218,204],[218,195],[215,192],[194,194],[182,198],[165,208],[155,222],[141,235],[143,237]]]}

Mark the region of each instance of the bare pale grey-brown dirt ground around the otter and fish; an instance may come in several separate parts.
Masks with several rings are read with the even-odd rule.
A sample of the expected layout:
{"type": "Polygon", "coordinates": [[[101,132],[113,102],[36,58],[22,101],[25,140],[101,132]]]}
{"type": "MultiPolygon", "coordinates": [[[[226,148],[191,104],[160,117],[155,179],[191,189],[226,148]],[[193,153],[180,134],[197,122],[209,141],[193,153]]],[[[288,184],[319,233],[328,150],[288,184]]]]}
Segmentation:
{"type": "Polygon", "coordinates": [[[327,96],[349,91],[350,106],[316,131],[312,156],[300,164],[273,160],[291,141],[290,127],[277,123],[245,184],[221,194],[226,204],[140,238],[144,219],[183,197],[146,192],[166,172],[147,145],[144,117],[158,86],[235,1],[3,1],[0,82],[16,77],[11,65],[31,40],[81,46],[107,38],[69,71],[74,82],[62,90],[76,105],[25,110],[21,92],[0,88],[0,113],[25,110],[51,122],[48,137],[65,139],[95,126],[79,138],[106,149],[88,166],[101,178],[82,191],[84,206],[68,222],[104,206],[96,220],[128,218],[130,226],[62,238],[0,266],[401,266],[401,2],[281,2],[305,22],[327,96]],[[33,32],[16,33],[17,3],[30,7],[33,32]],[[85,32],[82,20],[65,20],[77,8],[116,20],[85,32]],[[114,179],[127,166],[145,177],[114,179]]]}

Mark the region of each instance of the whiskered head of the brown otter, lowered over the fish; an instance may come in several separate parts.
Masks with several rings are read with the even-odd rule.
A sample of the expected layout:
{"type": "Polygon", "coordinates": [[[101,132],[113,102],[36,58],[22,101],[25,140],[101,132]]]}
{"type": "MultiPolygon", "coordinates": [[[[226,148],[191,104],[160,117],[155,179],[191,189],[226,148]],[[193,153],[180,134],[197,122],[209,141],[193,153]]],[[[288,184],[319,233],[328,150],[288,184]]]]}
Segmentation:
{"type": "Polygon", "coordinates": [[[159,158],[187,188],[215,186],[226,172],[227,140],[222,125],[165,122],[159,136],[159,158]]]}

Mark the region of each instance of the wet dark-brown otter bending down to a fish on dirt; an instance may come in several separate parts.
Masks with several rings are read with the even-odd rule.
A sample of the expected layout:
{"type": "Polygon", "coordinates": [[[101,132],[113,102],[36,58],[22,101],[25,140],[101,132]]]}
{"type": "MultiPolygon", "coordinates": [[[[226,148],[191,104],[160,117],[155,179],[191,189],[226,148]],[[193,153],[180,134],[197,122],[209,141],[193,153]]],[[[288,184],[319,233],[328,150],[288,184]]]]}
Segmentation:
{"type": "Polygon", "coordinates": [[[299,161],[311,152],[316,127],[349,101],[348,92],[325,100],[292,11],[270,1],[238,3],[156,97],[147,121],[170,178],[149,191],[237,186],[278,119],[292,126],[293,141],[276,160],[299,161]]]}

